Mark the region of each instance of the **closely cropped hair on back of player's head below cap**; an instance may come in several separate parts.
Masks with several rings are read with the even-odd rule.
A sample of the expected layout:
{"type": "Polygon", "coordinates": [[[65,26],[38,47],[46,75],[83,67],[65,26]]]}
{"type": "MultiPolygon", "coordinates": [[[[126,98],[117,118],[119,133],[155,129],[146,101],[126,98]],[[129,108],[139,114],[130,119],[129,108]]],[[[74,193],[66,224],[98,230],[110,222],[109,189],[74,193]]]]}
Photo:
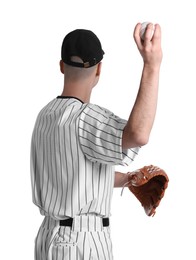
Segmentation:
{"type": "MultiPolygon", "coordinates": [[[[83,62],[82,59],[77,56],[72,56],[71,60],[74,62],[83,62]]],[[[73,67],[64,63],[65,78],[72,81],[87,79],[93,73],[95,73],[96,69],[97,69],[97,64],[90,68],[80,68],[80,67],[73,67]]]]}

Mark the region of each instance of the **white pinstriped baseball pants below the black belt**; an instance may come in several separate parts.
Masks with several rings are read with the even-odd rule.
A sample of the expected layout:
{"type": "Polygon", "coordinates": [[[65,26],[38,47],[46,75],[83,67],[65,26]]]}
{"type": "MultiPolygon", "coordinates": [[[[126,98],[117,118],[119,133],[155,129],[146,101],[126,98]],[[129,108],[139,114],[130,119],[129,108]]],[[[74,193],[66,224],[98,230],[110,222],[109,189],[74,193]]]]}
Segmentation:
{"type": "Polygon", "coordinates": [[[35,239],[35,260],[112,260],[110,227],[95,215],[76,216],[71,227],[45,217],[35,239]]]}

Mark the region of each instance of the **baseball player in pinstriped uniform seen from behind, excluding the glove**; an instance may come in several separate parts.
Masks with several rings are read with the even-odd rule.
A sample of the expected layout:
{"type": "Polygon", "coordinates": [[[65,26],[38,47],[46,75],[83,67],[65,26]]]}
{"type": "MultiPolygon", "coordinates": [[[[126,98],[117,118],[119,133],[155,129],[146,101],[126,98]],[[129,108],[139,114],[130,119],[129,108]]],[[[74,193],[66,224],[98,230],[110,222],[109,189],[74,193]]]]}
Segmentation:
{"type": "Polygon", "coordinates": [[[157,105],[161,29],[155,25],[151,40],[149,24],[142,41],[140,28],[134,39],[144,66],[128,120],[90,103],[104,55],[98,37],[77,29],[63,40],[64,89],[39,112],[32,133],[32,197],[44,216],[35,260],[113,259],[112,192],[128,180],[115,165],[129,165],[148,142],[157,105]]]}

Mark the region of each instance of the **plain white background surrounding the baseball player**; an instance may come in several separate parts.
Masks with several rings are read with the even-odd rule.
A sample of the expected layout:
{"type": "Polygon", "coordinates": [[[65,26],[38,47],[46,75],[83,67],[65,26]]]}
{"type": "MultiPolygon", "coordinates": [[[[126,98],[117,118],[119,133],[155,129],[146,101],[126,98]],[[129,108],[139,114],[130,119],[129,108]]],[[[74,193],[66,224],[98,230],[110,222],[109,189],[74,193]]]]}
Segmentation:
{"type": "Polygon", "coordinates": [[[196,259],[194,2],[1,1],[2,259],[33,259],[42,217],[31,200],[30,138],[39,110],[62,91],[58,62],[63,37],[75,28],[91,29],[98,35],[106,54],[91,101],[127,119],[142,70],[132,34],[136,23],[143,21],[162,27],[158,110],[148,145],[130,167],[120,170],[155,164],[165,169],[170,183],[154,218],[145,215],[128,190],[122,197],[120,189],[114,191],[114,259],[196,259]]]}

